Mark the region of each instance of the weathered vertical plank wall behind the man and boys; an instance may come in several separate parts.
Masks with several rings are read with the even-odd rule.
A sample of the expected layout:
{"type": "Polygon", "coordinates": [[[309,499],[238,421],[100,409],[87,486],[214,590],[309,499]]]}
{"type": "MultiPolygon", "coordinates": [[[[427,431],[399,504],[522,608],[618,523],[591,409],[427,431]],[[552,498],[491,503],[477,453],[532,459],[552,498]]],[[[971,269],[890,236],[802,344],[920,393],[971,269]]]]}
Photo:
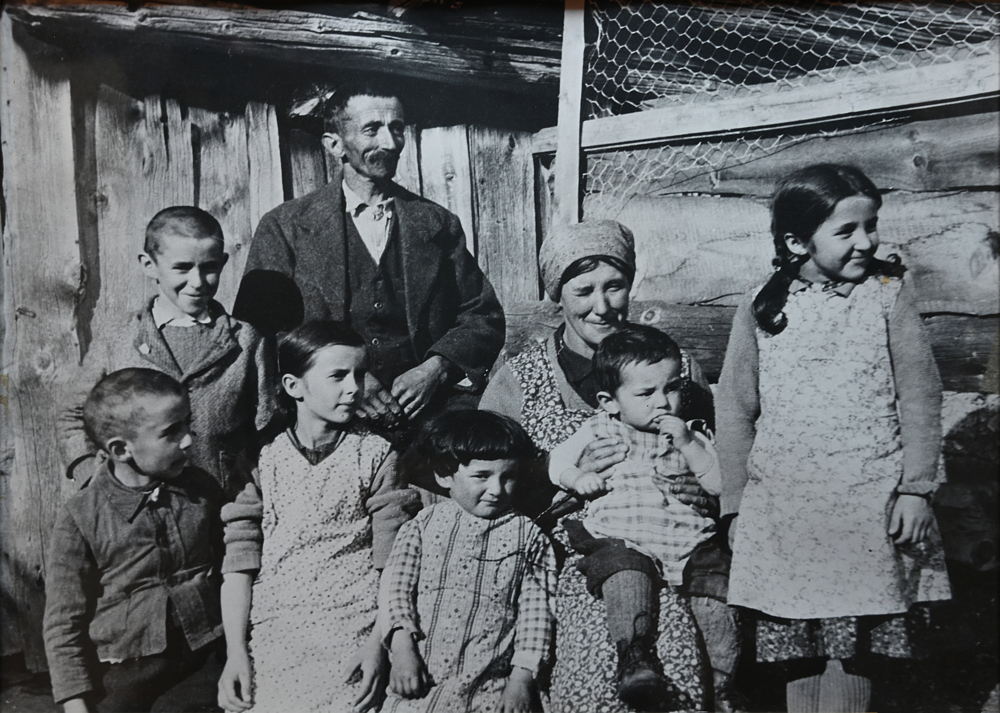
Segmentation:
{"type": "MultiPolygon", "coordinates": [[[[44,547],[76,488],[63,477],[72,456],[52,448],[51,435],[81,385],[120,363],[131,315],[155,293],[137,263],[146,223],[180,204],[218,218],[230,260],[217,298],[231,308],[260,217],[341,171],[318,135],[284,127],[267,103],[182,106],[43,71],[3,17],[0,87],[11,101],[0,116],[9,266],[0,385],[10,385],[13,425],[0,443],[0,464],[11,466],[0,473],[3,642],[4,653],[24,651],[42,669],[44,547]]],[[[400,183],[461,217],[501,299],[535,297],[530,136],[454,126],[407,137],[400,183]]]]}

